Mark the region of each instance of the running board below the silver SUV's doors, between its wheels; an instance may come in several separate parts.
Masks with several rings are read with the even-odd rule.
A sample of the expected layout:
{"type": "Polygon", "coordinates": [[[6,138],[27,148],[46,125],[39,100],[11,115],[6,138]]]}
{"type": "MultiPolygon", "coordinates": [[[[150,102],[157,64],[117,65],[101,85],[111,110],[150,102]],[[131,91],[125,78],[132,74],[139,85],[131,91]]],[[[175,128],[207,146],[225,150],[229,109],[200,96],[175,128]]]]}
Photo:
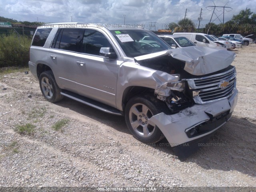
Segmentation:
{"type": "Polygon", "coordinates": [[[78,95],[76,93],[73,93],[73,92],[70,92],[70,91],[67,91],[67,90],[62,90],[62,92],[60,92],[60,94],[66,96],[70,99],[73,99],[73,100],[76,100],[76,101],[81,102],[83,104],[86,104],[88,106],[91,106],[93,108],[96,108],[98,110],[104,111],[106,113],[122,116],[120,110],[118,110],[114,107],[108,106],[106,104],[103,104],[101,102],[98,102],[98,101],[86,98],[84,96],[78,95]]]}

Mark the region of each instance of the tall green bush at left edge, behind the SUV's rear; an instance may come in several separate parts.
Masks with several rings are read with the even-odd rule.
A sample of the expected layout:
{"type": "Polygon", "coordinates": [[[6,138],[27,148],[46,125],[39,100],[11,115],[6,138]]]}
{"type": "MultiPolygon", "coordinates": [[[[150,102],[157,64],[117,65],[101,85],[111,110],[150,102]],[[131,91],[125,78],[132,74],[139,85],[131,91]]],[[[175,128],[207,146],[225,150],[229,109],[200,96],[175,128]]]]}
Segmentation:
{"type": "Polygon", "coordinates": [[[0,36],[0,67],[28,66],[31,38],[28,36],[0,36]]]}

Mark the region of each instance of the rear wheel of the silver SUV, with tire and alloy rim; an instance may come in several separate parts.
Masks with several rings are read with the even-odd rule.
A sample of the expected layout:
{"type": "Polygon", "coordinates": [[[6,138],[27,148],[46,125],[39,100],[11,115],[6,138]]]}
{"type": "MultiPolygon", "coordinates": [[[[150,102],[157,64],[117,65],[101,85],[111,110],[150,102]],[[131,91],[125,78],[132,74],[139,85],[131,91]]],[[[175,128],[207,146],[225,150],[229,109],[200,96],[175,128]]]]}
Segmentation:
{"type": "Polygon", "coordinates": [[[60,88],[58,87],[52,71],[44,71],[40,74],[39,84],[41,92],[44,98],[49,102],[58,102],[63,99],[63,95],[60,94],[60,88]]]}

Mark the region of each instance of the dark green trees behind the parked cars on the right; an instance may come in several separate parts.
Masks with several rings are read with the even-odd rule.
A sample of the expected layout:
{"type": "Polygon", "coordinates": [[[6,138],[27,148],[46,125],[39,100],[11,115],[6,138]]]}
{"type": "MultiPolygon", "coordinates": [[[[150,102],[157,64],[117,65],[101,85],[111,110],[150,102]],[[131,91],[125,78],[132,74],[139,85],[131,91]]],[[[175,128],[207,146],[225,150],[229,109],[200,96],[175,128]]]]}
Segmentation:
{"type": "MultiPolygon", "coordinates": [[[[197,32],[198,26],[191,19],[186,18],[178,23],[172,22],[168,30],[173,32],[197,32]]],[[[256,34],[256,14],[250,9],[241,10],[239,14],[233,15],[232,19],[224,24],[208,23],[199,26],[199,32],[222,36],[222,34],[237,33],[242,35],[256,34]]]]}

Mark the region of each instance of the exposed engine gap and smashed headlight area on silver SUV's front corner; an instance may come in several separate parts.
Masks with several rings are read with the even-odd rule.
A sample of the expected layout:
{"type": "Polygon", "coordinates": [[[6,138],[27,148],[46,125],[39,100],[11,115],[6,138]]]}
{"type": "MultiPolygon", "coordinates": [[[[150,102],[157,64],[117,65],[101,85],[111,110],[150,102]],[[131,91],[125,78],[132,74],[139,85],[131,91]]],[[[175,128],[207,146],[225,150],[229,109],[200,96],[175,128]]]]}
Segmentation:
{"type": "Polygon", "coordinates": [[[189,75],[184,70],[185,62],[173,58],[170,54],[165,54],[156,58],[140,60],[137,63],[158,71],[152,74],[157,82],[155,95],[159,100],[166,102],[172,114],[193,105],[193,101],[186,95],[185,82],[179,81],[181,76],[189,75]],[[162,76],[160,71],[175,76],[178,81],[166,82],[166,78],[160,79],[159,77],[162,76]]]}

